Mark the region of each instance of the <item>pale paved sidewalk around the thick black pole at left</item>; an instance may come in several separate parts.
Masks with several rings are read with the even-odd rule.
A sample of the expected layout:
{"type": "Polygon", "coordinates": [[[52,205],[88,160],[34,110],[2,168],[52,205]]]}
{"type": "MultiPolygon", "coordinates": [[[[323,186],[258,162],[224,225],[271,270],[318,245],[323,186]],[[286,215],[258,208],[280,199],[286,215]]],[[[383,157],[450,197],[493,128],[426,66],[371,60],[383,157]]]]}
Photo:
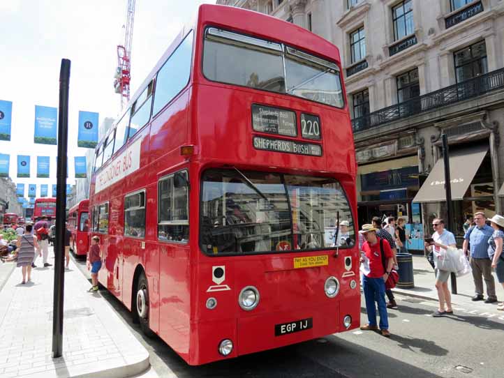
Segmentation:
{"type": "Polygon", "coordinates": [[[52,358],[54,266],[34,269],[31,279],[22,285],[17,268],[0,292],[0,377],[131,377],[149,368],[147,350],[99,292],[87,292],[73,262],[65,273],[63,356],[52,358]]]}

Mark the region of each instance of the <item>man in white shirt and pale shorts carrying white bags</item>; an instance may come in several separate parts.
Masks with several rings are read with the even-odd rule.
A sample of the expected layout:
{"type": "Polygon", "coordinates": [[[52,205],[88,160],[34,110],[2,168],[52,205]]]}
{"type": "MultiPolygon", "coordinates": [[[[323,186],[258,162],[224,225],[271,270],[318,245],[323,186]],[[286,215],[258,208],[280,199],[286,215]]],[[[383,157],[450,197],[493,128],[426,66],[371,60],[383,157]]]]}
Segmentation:
{"type": "MultiPolygon", "coordinates": [[[[445,229],[445,221],[443,219],[434,219],[432,221],[432,228],[434,229],[434,233],[432,234],[433,241],[426,241],[425,248],[429,251],[433,251],[436,261],[436,253],[440,252],[440,248],[447,250],[448,247],[457,247],[457,242],[455,241],[454,234],[445,229]]],[[[444,315],[453,314],[452,296],[450,294],[450,289],[448,289],[449,277],[449,271],[436,269],[436,290],[438,291],[439,308],[432,314],[433,317],[443,317],[444,315]]]]}

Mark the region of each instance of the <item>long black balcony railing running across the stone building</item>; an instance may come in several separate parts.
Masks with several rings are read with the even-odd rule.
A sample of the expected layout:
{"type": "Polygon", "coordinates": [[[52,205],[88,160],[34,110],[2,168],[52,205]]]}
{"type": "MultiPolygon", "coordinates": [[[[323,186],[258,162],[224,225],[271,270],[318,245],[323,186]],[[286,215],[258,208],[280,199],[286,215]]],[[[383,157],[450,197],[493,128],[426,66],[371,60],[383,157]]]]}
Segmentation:
{"type": "Polygon", "coordinates": [[[427,112],[459,101],[481,96],[489,91],[504,88],[504,68],[485,75],[474,77],[458,84],[447,86],[438,91],[426,93],[422,96],[410,98],[403,103],[384,107],[352,120],[354,133],[367,130],[375,126],[427,112]]]}

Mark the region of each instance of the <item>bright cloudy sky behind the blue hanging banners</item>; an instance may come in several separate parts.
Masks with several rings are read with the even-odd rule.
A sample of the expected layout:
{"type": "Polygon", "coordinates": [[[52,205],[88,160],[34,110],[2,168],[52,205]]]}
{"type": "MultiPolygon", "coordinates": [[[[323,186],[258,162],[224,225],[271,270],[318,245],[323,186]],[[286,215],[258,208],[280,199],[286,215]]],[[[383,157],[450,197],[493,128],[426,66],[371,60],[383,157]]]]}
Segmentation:
{"type": "MultiPolygon", "coordinates": [[[[131,53],[131,95],[154,68],[198,6],[215,0],[136,0],[131,53]]],[[[57,146],[34,144],[35,105],[58,107],[61,59],[71,60],[68,108],[67,183],[75,183],[73,157],[80,110],[98,112],[99,122],[120,112],[114,92],[117,45],[124,44],[127,0],[0,0],[0,100],[13,102],[10,178],[15,183],[56,183],[57,146]],[[31,156],[31,178],[17,178],[17,155],[31,156]],[[50,178],[36,178],[36,157],[51,156],[50,178]]],[[[49,186],[51,190],[51,185],[49,186]]]]}

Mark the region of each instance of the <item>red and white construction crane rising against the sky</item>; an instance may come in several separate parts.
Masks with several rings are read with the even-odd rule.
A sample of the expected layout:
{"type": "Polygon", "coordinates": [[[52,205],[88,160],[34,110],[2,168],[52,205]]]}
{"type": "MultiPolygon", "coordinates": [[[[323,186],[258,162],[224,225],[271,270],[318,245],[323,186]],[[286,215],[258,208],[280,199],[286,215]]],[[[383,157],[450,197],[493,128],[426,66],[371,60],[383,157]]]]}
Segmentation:
{"type": "Polygon", "coordinates": [[[131,40],[133,40],[133,21],[135,20],[135,0],[128,0],[126,25],[124,26],[124,45],[117,46],[117,68],[114,80],[115,93],[121,95],[121,110],[130,99],[131,81],[131,40]]]}

